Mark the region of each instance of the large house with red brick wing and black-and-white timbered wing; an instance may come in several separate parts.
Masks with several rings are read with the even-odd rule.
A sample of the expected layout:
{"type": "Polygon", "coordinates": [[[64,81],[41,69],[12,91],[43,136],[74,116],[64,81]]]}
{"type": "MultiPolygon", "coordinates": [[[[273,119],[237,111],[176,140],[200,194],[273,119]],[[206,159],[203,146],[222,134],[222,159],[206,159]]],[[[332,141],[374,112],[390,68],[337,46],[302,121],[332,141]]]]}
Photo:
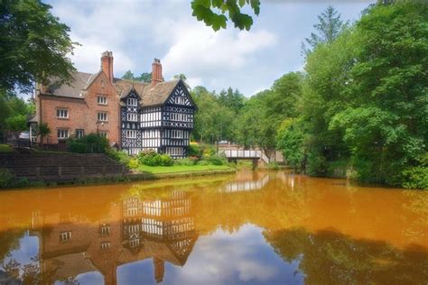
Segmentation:
{"type": "Polygon", "coordinates": [[[98,133],[129,154],[186,156],[196,105],[181,79],[163,81],[160,60],[152,68],[151,83],[114,78],[113,54],[105,51],[95,74],[76,72],[70,85],[37,84],[36,122],[51,128],[46,142],[98,133]]]}

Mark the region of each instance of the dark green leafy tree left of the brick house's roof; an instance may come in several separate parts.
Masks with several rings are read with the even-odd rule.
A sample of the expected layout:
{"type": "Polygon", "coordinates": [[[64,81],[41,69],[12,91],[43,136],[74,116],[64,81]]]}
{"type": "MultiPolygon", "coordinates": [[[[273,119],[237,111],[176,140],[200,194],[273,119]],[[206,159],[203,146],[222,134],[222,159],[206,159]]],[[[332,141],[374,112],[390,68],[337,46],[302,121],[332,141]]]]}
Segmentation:
{"type": "Polygon", "coordinates": [[[0,2],[0,88],[30,92],[33,82],[56,77],[66,82],[75,71],[70,28],[38,0],[0,2]]]}

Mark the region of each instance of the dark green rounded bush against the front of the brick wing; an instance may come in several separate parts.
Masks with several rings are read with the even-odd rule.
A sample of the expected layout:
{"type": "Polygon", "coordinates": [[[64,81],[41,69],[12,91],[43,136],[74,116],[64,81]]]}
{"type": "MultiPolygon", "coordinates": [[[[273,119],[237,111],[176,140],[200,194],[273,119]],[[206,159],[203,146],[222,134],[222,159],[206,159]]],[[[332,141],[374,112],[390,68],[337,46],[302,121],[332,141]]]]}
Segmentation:
{"type": "Polygon", "coordinates": [[[81,138],[70,138],[67,144],[70,152],[79,153],[107,153],[110,148],[107,138],[98,136],[96,133],[89,133],[81,138]]]}

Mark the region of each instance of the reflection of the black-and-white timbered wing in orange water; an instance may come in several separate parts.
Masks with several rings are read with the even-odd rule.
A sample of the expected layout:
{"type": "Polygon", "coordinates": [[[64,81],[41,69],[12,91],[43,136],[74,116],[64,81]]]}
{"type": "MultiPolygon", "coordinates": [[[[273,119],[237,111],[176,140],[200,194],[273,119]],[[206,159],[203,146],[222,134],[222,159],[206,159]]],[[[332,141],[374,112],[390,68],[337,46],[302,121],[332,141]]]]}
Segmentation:
{"type": "Polygon", "coordinates": [[[123,242],[133,252],[142,248],[154,256],[156,281],[163,280],[163,262],[184,265],[196,241],[191,199],[183,191],[167,198],[123,202],[123,242]]]}

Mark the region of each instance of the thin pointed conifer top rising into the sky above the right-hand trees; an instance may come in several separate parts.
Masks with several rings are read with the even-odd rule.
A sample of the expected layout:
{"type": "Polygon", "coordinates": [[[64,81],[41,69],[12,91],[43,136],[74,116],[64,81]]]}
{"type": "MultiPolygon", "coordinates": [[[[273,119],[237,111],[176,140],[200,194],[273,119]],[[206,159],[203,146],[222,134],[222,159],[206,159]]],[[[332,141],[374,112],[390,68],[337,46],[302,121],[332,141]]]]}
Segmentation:
{"type": "Polygon", "coordinates": [[[312,32],[311,37],[305,38],[302,42],[302,51],[305,54],[313,51],[320,43],[331,43],[340,35],[348,22],[343,23],[340,20],[340,14],[333,6],[328,6],[327,9],[318,15],[319,23],[313,25],[317,33],[312,32]]]}

